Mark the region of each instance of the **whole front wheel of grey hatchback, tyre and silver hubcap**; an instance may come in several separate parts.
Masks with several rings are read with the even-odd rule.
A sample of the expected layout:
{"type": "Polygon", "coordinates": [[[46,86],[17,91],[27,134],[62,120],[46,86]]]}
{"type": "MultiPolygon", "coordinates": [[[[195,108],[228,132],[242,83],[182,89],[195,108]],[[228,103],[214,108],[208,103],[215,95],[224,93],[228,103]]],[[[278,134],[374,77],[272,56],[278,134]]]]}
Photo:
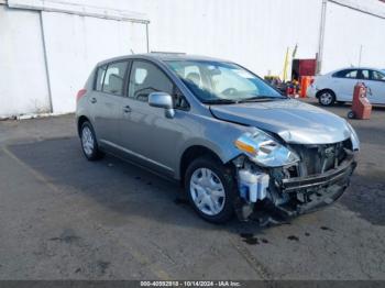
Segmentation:
{"type": "Polygon", "coordinates": [[[237,184],[233,171],[219,160],[204,156],[186,171],[185,189],[195,211],[212,223],[224,223],[234,214],[237,184]]]}

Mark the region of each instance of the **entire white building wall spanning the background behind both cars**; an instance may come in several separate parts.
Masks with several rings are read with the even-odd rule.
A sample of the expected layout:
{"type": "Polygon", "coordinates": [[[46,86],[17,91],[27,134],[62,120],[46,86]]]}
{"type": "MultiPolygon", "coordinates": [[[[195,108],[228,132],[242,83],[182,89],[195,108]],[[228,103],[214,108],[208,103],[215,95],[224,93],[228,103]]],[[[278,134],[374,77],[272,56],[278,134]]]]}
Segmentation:
{"type": "MultiPolygon", "coordinates": [[[[8,3],[14,7],[28,3],[31,9],[44,11],[0,5],[0,117],[48,111],[51,102],[53,112],[73,112],[76,91],[97,62],[131,51],[146,52],[145,24],[118,21],[131,15],[127,11],[135,11],[133,16],[145,14],[151,21],[151,51],[222,57],[261,76],[282,75],[287,47],[293,52],[298,45],[297,58],[316,57],[322,0],[8,0],[8,3]],[[57,11],[67,7],[94,16],[57,11]]],[[[385,4],[377,0],[330,0],[322,71],[358,65],[361,45],[362,65],[385,67],[385,20],[344,5],[385,15],[385,4]]]]}

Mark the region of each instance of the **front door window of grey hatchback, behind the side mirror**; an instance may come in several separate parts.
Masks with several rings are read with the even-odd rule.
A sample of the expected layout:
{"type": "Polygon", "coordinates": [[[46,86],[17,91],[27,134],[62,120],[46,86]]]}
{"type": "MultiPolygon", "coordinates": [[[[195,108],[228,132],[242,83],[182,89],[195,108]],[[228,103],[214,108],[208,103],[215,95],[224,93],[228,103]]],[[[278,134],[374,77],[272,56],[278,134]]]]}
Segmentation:
{"type": "Polygon", "coordinates": [[[129,97],[147,101],[152,92],[174,93],[174,85],[155,65],[148,62],[134,60],[130,74],[129,97]]]}

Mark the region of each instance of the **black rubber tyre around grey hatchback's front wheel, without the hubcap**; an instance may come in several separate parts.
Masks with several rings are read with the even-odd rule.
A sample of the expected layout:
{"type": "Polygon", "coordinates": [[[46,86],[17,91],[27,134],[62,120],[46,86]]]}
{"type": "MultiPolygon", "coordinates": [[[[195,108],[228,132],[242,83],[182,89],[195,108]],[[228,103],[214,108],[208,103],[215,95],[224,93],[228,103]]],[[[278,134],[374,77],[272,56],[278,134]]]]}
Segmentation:
{"type": "Polygon", "coordinates": [[[231,167],[224,166],[222,163],[220,163],[218,159],[210,157],[210,156],[202,156],[199,157],[190,163],[188,166],[186,174],[185,174],[185,192],[189,199],[190,204],[193,206],[194,210],[206,221],[216,223],[216,224],[223,224],[231,220],[234,215],[234,201],[237,199],[238,189],[237,189],[237,180],[234,178],[234,171],[231,169],[231,167]],[[218,176],[220,179],[223,190],[224,190],[224,204],[221,211],[217,214],[209,215],[207,213],[204,213],[198,206],[195,203],[193,199],[193,193],[195,191],[191,191],[190,189],[190,181],[191,176],[195,171],[197,171],[199,168],[208,168],[211,171],[218,176]]]}

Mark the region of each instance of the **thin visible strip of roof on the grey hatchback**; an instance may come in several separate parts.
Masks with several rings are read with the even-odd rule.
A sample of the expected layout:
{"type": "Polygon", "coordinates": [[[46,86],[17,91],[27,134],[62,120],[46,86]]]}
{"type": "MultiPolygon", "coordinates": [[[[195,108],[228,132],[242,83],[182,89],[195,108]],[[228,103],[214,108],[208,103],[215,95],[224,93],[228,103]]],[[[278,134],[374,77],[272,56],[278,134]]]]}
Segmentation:
{"type": "Polygon", "coordinates": [[[143,58],[143,59],[155,59],[161,62],[166,60],[212,60],[212,62],[229,62],[220,58],[201,56],[201,55],[187,55],[184,53],[163,53],[163,52],[153,52],[153,53],[144,53],[144,54],[132,54],[132,55],[123,55],[119,57],[109,58],[102,62],[99,62],[98,65],[103,65],[110,62],[130,59],[130,58],[143,58]]]}

